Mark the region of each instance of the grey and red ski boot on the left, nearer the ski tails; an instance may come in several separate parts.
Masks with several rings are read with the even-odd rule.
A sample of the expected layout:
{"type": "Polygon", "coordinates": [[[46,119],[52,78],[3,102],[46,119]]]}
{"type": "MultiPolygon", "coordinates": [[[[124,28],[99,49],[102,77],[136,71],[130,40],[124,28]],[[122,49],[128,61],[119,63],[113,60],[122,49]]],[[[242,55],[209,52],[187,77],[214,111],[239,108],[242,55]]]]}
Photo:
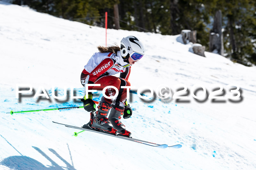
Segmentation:
{"type": "Polygon", "coordinates": [[[111,104],[99,102],[98,110],[92,121],[92,128],[104,130],[109,133],[117,133],[117,130],[113,128],[113,125],[107,118],[110,109],[111,104]]]}

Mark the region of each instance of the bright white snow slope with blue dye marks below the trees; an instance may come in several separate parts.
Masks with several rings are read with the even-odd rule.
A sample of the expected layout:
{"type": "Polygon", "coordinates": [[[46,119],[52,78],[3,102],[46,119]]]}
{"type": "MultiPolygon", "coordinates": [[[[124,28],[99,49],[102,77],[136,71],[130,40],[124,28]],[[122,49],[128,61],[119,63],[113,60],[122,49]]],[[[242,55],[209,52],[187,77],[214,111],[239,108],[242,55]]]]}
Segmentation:
{"type": "MultiPolygon", "coordinates": [[[[205,52],[189,52],[180,35],[108,29],[108,45],[127,35],[144,40],[147,53],[132,66],[129,81],[136,88],[160,84],[191,89],[201,84],[239,85],[243,100],[203,103],[188,96],[176,100],[143,102],[132,94],[133,115],[122,119],[132,137],[160,144],[182,144],[180,149],[158,149],[122,139],[83,132],[52,121],[81,126],[89,121],[84,109],[6,114],[82,106],[51,96],[52,86],[73,87],[82,93],[80,74],[97,46],[105,44],[105,29],[38,13],[0,1],[0,169],[255,169],[256,67],[245,67],[205,52]],[[16,84],[43,86],[49,100],[15,98],[16,84]],[[180,87],[180,86],[179,86],[180,87]]],[[[184,93],[183,93],[184,94],[184,93]]],[[[198,93],[199,94],[199,93],[198,93]]],[[[99,100],[101,92],[95,95],[99,100]]]]}

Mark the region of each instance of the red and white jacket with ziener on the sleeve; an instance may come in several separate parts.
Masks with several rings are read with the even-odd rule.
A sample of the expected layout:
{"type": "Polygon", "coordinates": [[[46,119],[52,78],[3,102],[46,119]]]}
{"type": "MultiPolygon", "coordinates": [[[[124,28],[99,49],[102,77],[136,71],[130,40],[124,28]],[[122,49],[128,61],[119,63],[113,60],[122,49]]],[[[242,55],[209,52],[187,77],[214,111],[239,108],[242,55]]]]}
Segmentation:
{"type": "Polygon", "coordinates": [[[120,74],[120,78],[128,80],[131,72],[131,65],[124,62],[121,52],[115,53],[94,53],[88,63],[84,66],[83,73],[88,74],[88,82],[94,83],[102,76],[120,74]]]}

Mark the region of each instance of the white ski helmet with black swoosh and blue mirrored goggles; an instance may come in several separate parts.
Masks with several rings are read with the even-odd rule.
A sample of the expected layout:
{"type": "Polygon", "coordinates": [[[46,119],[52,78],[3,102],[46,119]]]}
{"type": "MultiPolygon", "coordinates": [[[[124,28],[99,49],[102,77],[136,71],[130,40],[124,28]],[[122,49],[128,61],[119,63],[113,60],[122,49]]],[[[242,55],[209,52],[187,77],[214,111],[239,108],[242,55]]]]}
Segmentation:
{"type": "Polygon", "coordinates": [[[143,57],[146,48],[145,45],[134,36],[127,36],[121,40],[121,55],[124,60],[129,57],[136,61],[143,57]]]}

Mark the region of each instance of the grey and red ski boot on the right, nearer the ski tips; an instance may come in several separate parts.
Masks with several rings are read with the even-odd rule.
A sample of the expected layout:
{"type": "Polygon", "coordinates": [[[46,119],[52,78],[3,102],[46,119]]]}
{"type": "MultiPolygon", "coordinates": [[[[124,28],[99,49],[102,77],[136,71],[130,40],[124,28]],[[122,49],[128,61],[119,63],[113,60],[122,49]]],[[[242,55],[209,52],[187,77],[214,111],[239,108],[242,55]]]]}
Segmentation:
{"type": "Polygon", "coordinates": [[[124,115],[124,107],[113,105],[108,119],[119,134],[131,136],[132,133],[127,131],[124,124],[120,121],[121,115],[124,115]]]}

